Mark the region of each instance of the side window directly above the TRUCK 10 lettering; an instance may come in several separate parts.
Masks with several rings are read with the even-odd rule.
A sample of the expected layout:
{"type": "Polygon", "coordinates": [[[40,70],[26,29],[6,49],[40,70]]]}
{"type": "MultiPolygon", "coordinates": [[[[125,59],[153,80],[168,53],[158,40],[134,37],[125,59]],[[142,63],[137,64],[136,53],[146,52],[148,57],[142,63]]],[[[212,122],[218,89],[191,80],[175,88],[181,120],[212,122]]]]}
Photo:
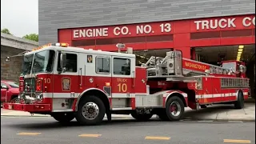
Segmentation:
{"type": "Polygon", "coordinates": [[[130,59],[114,58],[114,74],[130,75],[130,59]]]}

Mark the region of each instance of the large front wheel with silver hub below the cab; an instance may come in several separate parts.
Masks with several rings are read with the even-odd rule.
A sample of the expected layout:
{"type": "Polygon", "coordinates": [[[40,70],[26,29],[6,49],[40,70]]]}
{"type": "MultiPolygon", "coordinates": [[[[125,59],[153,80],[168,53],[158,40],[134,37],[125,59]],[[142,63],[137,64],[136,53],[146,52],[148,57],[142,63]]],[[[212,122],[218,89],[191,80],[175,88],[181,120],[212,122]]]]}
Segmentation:
{"type": "Polygon", "coordinates": [[[100,98],[86,96],[79,101],[75,118],[82,125],[98,125],[105,113],[106,107],[100,98]]]}

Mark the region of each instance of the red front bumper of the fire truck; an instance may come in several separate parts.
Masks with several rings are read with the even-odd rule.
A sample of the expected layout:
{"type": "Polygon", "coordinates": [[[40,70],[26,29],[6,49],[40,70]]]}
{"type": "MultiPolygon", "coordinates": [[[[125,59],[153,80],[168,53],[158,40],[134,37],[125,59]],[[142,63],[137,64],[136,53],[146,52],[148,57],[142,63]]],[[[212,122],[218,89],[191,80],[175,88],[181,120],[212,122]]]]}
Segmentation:
{"type": "Polygon", "coordinates": [[[2,106],[6,110],[20,110],[27,112],[46,112],[51,111],[50,104],[21,104],[21,103],[4,103],[2,106]]]}

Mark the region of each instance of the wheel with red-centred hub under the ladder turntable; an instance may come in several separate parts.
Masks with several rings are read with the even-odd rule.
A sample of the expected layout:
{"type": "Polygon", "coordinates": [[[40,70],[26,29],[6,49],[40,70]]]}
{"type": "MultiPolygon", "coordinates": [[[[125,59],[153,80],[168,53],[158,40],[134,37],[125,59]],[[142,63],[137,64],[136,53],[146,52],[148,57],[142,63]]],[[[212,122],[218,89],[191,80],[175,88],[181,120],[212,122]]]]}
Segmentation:
{"type": "Polygon", "coordinates": [[[177,96],[171,97],[166,102],[166,115],[170,121],[178,121],[184,114],[184,103],[177,96]]]}

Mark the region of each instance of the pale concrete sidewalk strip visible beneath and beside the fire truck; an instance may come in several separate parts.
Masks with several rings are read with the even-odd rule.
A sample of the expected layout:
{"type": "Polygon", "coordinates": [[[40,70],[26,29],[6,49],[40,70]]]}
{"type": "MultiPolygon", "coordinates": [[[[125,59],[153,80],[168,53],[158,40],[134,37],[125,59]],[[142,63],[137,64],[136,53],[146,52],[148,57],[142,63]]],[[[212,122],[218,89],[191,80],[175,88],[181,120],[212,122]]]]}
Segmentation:
{"type": "MultiPolygon", "coordinates": [[[[184,119],[191,120],[227,120],[227,121],[255,121],[255,103],[246,103],[242,110],[235,110],[233,105],[208,106],[206,109],[191,110],[185,109],[184,119]]],[[[2,110],[1,116],[10,117],[50,117],[50,115],[34,114],[28,112],[2,110]]],[[[112,114],[113,118],[132,118],[130,115],[112,114]]],[[[153,118],[156,118],[154,115],[153,118]]]]}

